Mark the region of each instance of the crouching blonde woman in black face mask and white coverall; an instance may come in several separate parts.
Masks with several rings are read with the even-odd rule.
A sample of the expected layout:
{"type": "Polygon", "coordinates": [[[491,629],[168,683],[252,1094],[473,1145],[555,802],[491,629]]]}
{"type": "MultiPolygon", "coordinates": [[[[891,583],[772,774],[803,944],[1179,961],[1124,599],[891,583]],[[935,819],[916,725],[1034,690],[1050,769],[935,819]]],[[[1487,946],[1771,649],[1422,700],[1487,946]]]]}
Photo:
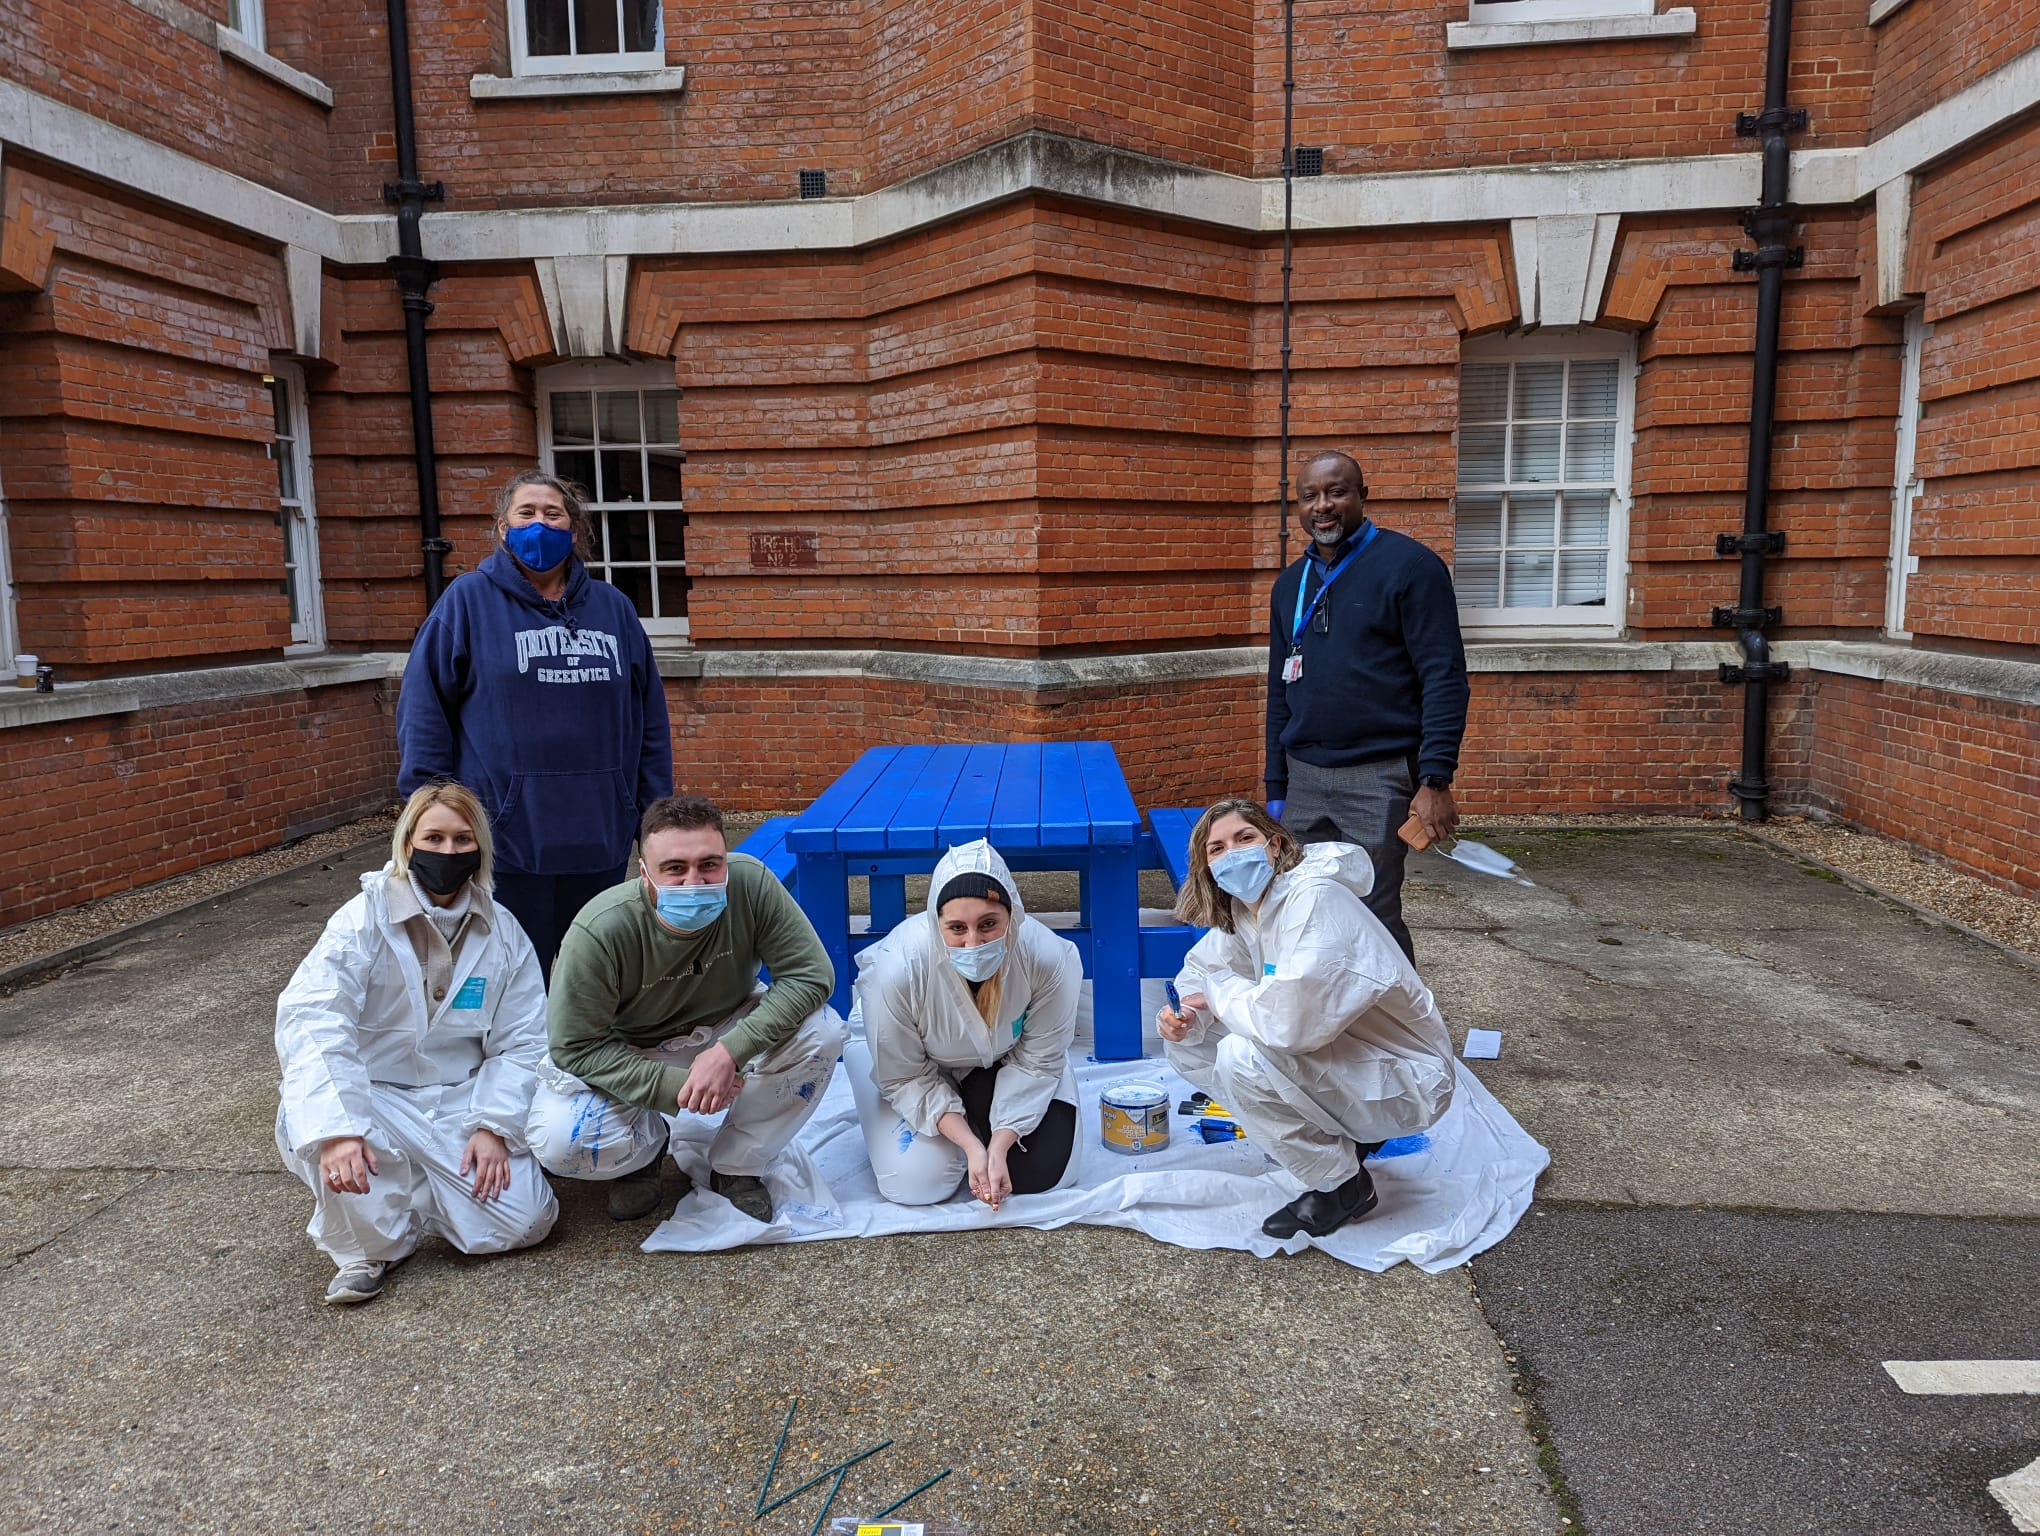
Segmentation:
{"type": "Polygon", "coordinates": [[[502,1252],[553,1230],[559,1204],[524,1146],[545,1057],[530,940],[490,898],[490,824],[457,783],[412,793],[390,863],[333,914],[275,1004],[275,1144],[312,1189],[306,1228],[367,1301],[435,1232],[502,1252]]]}

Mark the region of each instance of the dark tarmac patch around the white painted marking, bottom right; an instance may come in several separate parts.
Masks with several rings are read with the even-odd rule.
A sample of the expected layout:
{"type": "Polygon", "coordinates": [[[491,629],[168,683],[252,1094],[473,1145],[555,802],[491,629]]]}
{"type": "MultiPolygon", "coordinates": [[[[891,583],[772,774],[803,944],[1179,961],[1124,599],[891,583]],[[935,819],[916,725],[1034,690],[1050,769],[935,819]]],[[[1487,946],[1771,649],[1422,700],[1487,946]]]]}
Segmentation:
{"type": "Polygon", "coordinates": [[[2030,1359],[2040,1226],[1542,1208],[1473,1261],[1591,1536],[2007,1536],[2034,1397],[1889,1359],[2030,1359]]]}

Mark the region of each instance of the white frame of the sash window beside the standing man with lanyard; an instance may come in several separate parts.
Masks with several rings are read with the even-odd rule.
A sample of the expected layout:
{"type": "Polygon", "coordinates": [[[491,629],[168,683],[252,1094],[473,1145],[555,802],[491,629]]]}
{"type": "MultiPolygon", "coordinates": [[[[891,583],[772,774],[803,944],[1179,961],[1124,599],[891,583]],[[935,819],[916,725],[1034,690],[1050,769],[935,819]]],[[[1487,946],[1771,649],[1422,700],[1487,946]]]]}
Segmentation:
{"type": "MultiPolygon", "coordinates": [[[[1636,445],[1638,373],[1636,339],[1622,330],[1601,330],[1597,326],[1546,326],[1528,337],[1481,337],[1463,343],[1459,349],[1461,369],[1467,363],[1550,363],[1608,357],[1616,359],[1616,475],[1608,498],[1608,602],[1601,606],[1461,608],[1459,626],[1469,638],[1608,641],[1618,638],[1628,628],[1630,514],[1634,510],[1630,469],[1636,445]]],[[[1455,592],[1459,585],[1459,434],[1461,424],[1455,408],[1450,500],[1455,592]]],[[[1565,483],[1565,479],[1557,479],[1550,483],[1550,490],[1563,494],[1565,483]]],[[[1503,483],[1501,494],[1508,490],[1510,485],[1503,483]]],[[[1506,551],[1508,545],[1503,545],[1503,559],[1506,551]]]]}

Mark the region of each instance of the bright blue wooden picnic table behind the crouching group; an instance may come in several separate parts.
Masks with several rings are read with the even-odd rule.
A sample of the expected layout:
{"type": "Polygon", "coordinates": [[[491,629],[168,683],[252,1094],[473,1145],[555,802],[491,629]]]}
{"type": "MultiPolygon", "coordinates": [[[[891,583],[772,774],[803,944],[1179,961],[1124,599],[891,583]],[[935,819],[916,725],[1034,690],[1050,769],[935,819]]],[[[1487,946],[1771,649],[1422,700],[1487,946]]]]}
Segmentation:
{"type": "Polygon", "coordinates": [[[873,747],[800,816],[745,840],[792,885],[830,963],[838,1012],[851,1006],[851,957],[906,920],[906,877],[926,875],[959,842],[989,838],[1016,871],[1077,873],[1079,914],[1061,934],[1091,977],[1093,1053],[1140,1055],[1140,977],[1173,975],[1200,930],[1140,926],[1140,871],[1177,851],[1142,830],[1112,743],[873,747]],[[871,881],[871,924],[851,932],[849,883],[871,881]]]}

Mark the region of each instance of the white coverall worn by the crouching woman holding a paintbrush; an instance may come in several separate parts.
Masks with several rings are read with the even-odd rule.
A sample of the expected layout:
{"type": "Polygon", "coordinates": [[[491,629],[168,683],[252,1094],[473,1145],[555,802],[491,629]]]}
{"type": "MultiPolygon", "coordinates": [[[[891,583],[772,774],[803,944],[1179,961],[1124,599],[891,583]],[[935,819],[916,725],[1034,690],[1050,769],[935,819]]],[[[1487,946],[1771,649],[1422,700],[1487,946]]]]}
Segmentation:
{"type": "Polygon", "coordinates": [[[1365,849],[1316,842],[1259,914],[1234,898],[1234,932],[1206,932],[1175,979],[1208,1006],[1169,1065],[1306,1189],[1350,1179],[1355,1142],[1410,1136],[1452,1104],[1444,1016],[1361,902],[1373,883],[1365,849]]]}

